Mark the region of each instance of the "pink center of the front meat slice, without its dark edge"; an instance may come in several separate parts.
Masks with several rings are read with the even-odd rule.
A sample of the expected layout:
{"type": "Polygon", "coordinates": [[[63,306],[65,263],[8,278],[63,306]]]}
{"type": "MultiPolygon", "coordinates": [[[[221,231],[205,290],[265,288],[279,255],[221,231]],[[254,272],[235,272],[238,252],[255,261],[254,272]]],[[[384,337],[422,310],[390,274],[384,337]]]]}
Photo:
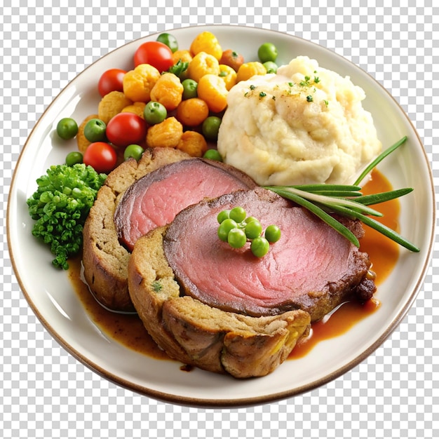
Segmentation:
{"type": "MultiPolygon", "coordinates": [[[[187,224],[174,247],[174,266],[196,285],[202,302],[236,311],[270,309],[323,290],[349,269],[349,241],[300,208],[276,208],[281,240],[262,258],[252,255],[249,243],[235,250],[219,241],[216,215],[222,208],[187,224]]],[[[263,204],[248,215],[263,227],[273,224],[273,212],[263,204]]]]}

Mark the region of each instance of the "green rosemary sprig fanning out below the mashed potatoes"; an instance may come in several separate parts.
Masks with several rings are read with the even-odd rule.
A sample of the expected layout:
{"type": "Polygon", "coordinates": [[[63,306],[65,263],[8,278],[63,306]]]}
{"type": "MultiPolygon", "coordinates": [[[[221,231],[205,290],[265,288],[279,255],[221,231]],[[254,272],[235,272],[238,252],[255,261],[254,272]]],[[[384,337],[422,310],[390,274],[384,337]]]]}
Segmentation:
{"type": "Polygon", "coordinates": [[[349,239],[351,243],[360,247],[360,243],[356,236],[341,222],[337,221],[331,213],[337,213],[343,217],[351,219],[359,219],[367,226],[379,231],[379,233],[391,238],[392,241],[402,245],[412,252],[419,252],[416,245],[407,241],[396,231],[381,224],[370,216],[381,217],[381,212],[367,207],[390,201],[400,196],[409,194],[413,189],[410,187],[396,189],[394,191],[381,192],[379,194],[363,195],[361,187],[358,186],[364,177],[370,173],[375,166],[378,165],[386,156],[395,151],[407,140],[407,136],[393,144],[390,148],[383,151],[367,168],[361,173],[353,185],[349,184],[298,184],[294,186],[265,186],[276,194],[288,198],[289,200],[302,205],[314,215],[317,215],[326,224],[335,229],[339,234],[349,239]]]}

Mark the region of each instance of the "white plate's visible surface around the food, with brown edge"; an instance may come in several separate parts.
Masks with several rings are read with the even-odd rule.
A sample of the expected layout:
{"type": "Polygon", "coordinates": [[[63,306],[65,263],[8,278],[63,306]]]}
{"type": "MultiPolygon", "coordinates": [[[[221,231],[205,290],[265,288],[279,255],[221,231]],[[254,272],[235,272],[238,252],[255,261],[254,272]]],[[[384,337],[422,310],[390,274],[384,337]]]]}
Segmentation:
{"type": "MultiPolygon", "coordinates": [[[[222,47],[256,60],[260,44],[271,41],[279,51],[279,63],[297,55],[308,55],[322,67],[349,75],[367,95],[364,107],[372,112],[384,147],[404,135],[407,143],[386,158],[381,172],[393,187],[413,187],[401,199],[400,227],[405,238],[418,245],[417,254],[401,249],[396,269],[379,286],[378,311],[344,335],[316,345],[304,358],[288,360],[267,377],[236,380],[202,370],[180,371],[180,363],[155,360],[131,351],[107,337],[93,323],[76,296],[67,273],[53,269],[52,255],[31,234],[32,219],[26,200],[36,189],[36,178],[62,163],[66,155],[53,130],[66,116],[82,121],[96,112],[100,96],[97,79],[109,68],[130,69],[140,43],[156,39],[150,35],[118,48],[90,65],[70,83],[46,109],[20,155],[8,201],[8,244],[13,267],[23,293],[36,316],[51,335],[73,356],[115,383],[159,400],[196,406],[227,407],[254,405],[309,391],[344,374],[376,349],[400,323],[424,281],[431,257],[435,202],[433,178],[424,147],[409,119],[377,81],[351,62],[314,43],[295,36],[252,27],[187,27],[170,31],[180,48],[189,48],[194,36],[210,30],[222,47]]],[[[76,142],[71,141],[71,149],[76,142]]]]}

